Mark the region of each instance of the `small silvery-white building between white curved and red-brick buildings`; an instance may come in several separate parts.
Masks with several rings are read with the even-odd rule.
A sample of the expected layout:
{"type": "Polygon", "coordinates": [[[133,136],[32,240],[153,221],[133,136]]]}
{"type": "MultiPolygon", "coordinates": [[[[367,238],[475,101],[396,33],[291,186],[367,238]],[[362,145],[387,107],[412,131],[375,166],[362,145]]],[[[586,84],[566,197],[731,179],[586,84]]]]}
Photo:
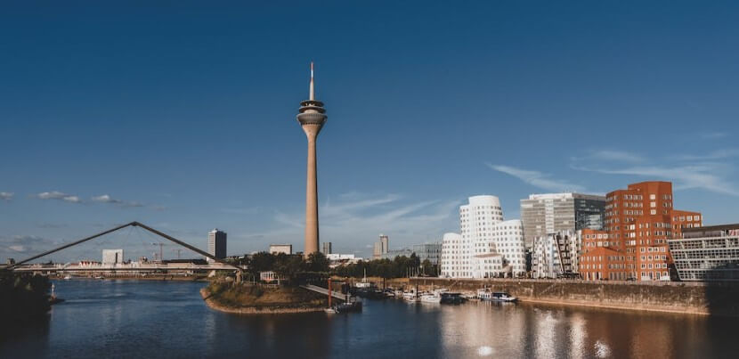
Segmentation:
{"type": "Polygon", "coordinates": [[[578,273],[580,231],[562,231],[535,237],[532,248],[533,278],[558,278],[578,273]]]}

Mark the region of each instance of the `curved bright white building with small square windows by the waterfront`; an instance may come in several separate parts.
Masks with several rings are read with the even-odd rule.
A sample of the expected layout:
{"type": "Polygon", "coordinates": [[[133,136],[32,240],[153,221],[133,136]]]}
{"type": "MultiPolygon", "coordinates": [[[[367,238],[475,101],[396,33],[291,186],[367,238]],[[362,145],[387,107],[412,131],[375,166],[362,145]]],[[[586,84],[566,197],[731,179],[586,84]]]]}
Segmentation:
{"type": "Polygon", "coordinates": [[[444,234],[442,276],[484,278],[526,272],[523,224],[503,221],[498,197],[470,197],[459,207],[459,229],[461,234],[444,234]]]}

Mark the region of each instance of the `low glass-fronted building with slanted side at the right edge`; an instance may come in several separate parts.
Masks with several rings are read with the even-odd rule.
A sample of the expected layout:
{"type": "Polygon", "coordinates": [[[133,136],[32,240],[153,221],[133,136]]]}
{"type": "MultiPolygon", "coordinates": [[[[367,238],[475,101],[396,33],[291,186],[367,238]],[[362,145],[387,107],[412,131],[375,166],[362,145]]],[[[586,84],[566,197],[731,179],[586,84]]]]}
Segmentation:
{"type": "Polygon", "coordinates": [[[684,228],[668,245],[680,281],[739,281],[739,224],[684,228]]]}

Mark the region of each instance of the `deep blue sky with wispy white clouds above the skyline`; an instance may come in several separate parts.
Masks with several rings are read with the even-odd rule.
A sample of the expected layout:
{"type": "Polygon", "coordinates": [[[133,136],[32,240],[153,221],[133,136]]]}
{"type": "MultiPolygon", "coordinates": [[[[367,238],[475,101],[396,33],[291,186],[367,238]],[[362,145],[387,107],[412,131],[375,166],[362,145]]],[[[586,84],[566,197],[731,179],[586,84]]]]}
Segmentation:
{"type": "Polygon", "coordinates": [[[739,222],[735,3],[150,3],[3,5],[0,260],[132,220],[302,249],[309,61],[335,251],[438,240],[470,195],[516,218],[530,193],[646,180],[739,222]]]}

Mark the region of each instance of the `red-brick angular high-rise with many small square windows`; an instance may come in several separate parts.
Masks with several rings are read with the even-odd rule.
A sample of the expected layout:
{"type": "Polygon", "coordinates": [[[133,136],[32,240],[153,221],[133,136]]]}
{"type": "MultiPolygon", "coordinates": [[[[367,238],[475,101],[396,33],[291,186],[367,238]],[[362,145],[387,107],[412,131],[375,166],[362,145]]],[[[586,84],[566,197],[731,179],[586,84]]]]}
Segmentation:
{"type": "Polygon", "coordinates": [[[670,182],[629,184],[605,197],[603,231],[583,231],[583,278],[670,280],[668,240],[700,227],[701,214],[672,208],[670,182]]]}

